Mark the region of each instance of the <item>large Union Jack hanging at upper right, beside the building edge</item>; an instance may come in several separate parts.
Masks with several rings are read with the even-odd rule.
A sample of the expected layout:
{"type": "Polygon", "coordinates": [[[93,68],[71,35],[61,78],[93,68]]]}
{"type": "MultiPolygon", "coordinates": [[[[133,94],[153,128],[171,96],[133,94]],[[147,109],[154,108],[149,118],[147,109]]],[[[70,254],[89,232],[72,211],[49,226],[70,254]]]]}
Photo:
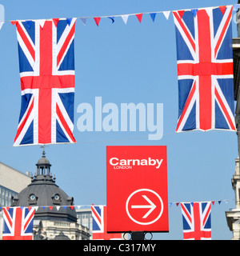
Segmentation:
{"type": "Polygon", "coordinates": [[[236,130],[232,8],[173,12],[178,59],[176,132],[236,130]]]}

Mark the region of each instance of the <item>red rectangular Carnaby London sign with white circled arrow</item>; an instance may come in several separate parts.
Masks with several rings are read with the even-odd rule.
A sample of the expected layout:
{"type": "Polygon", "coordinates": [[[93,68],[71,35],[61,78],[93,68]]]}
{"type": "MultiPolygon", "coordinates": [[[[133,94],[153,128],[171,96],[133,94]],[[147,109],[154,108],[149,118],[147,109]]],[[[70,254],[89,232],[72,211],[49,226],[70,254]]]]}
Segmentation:
{"type": "Polygon", "coordinates": [[[168,232],[166,146],[106,146],[107,231],[168,232]]]}

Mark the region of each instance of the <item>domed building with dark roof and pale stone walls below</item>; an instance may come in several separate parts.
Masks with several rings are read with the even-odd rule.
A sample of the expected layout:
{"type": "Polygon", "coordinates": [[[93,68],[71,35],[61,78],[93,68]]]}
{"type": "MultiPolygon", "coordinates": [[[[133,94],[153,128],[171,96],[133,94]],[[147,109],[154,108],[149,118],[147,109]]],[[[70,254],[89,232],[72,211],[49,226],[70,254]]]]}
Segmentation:
{"type": "Polygon", "coordinates": [[[12,198],[11,206],[38,206],[34,214],[34,240],[86,240],[90,230],[77,222],[74,198],[55,183],[50,162],[42,153],[37,173],[25,189],[12,198]]]}

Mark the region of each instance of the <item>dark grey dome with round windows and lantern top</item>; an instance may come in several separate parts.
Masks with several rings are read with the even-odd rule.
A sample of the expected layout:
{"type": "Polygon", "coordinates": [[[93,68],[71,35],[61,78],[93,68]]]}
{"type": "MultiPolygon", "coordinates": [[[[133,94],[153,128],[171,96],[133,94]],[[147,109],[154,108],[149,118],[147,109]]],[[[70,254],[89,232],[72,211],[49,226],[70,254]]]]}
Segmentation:
{"type": "Polygon", "coordinates": [[[12,198],[11,206],[38,206],[34,219],[77,222],[76,211],[69,207],[74,206],[74,198],[69,197],[55,184],[55,178],[50,173],[51,164],[44,150],[36,166],[37,174],[30,185],[12,198]]]}

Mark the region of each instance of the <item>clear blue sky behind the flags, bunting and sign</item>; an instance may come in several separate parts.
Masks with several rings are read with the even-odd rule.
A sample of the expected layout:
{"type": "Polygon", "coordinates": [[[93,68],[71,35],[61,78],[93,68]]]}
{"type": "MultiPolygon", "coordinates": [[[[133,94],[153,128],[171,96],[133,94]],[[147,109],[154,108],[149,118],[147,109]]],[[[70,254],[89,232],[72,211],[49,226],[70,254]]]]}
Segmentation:
{"type": "MultiPolygon", "coordinates": [[[[234,132],[190,132],[176,134],[178,119],[178,78],[173,16],[157,14],[152,22],[143,14],[141,24],[130,16],[93,18],[84,26],[79,17],[138,14],[165,10],[193,9],[235,4],[237,1],[2,1],[5,24],[0,31],[0,161],[22,172],[35,173],[40,146],[13,147],[21,106],[18,45],[10,20],[78,18],[75,33],[75,145],[46,146],[56,183],[74,197],[75,205],[106,204],[106,146],[167,146],[169,202],[222,201],[212,206],[212,238],[230,239],[232,233],[225,211],[234,208],[231,178],[238,156],[234,132]],[[149,132],[80,132],[77,107],[82,102],[94,106],[113,102],[162,103],[164,131],[158,141],[148,140],[149,132]],[[223,200],[228,200],[227,203],[223,200]]],[[[235,14],[235,12],[234,12],[235,14]]],[[[233,23],[233,36],[236,37],[233,23]]],[[[169,208],[170,232],[154,234],[154,239],[182,239],[182,214],[175,203],[169,208]]]]}

